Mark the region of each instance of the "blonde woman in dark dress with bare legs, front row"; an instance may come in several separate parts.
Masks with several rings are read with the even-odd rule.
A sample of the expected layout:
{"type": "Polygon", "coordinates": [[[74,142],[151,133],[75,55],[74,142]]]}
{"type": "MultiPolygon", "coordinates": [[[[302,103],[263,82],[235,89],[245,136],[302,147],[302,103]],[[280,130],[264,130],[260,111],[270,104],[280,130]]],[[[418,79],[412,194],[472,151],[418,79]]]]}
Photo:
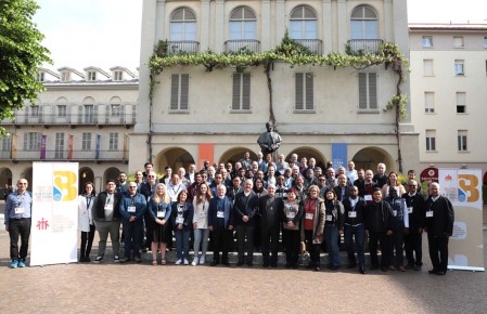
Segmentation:
{"type": "Polygon", "coordinates": [[[161,264],[166,264],[166,246],[172,234],[168,231],[170,218],[170,197],[164,183],[157,183],[154,195],[149,199],[148,211],[154,221],[152,238],[152,264],[157,265],[157,248],[161,248],[161,264]]]}

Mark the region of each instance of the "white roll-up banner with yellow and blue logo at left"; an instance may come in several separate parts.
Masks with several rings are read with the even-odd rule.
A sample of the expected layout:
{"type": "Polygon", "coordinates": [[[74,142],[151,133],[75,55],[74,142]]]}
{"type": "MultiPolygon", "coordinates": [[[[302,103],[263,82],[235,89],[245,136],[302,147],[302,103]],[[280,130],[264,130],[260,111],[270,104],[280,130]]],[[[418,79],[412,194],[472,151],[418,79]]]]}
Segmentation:
{"type": "Polygon", "coordinates": [[[30,265],[77,261],[78,163],[34,162],[30,265]]]}

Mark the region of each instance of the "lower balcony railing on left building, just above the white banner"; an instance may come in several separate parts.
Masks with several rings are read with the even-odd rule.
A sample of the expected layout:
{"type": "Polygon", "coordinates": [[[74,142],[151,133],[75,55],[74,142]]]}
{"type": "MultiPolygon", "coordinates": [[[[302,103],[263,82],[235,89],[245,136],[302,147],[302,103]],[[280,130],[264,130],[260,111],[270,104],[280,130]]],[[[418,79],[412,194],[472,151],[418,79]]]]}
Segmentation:
{"type": "Polygon", "coordinates": [[[128,158],[128,152],[124,151],[99,151],[98,156],[95,151],[73,151],[72,156],[69,153],[64,151],[46,151],[43,158],[41,158],[40,151],[24,151],[16,149],[15,152],[0,152],[0,160],[30,160],[30,161],[42,161],[42,160],[88,160],[88,161],[126,161],[128,158]]]}

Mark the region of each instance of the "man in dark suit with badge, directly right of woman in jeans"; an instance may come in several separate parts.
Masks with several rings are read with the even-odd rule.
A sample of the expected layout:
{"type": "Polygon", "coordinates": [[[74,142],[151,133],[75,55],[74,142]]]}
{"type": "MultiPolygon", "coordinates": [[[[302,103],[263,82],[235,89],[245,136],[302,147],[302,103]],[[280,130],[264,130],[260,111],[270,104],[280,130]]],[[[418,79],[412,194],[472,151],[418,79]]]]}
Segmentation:
{"type": "Polygon", "coordinates": [[[358,196],[359,189],[357,186],[350,186],[349,196],[343,200],[345,208],[345,246],[348,254],[347,269],[357,266],[357,260],[354,254],[354,237],[355,247],[357,249],[357,258],[359,261],[360,274],[366,274],[366,256],[363,253],[366,243],[366,225],[364,213],[367,202],[362,197],[358,196]]]}

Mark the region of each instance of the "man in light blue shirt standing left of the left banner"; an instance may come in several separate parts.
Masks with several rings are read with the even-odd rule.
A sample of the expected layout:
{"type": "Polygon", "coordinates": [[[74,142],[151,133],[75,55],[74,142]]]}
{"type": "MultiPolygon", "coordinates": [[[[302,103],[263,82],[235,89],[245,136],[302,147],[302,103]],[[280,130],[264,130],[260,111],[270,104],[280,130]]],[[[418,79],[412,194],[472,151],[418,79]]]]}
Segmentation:
{"type": "Polygon", "coordinates": [[[27,180],[18,180],[17,191],[9,194],[5,202],[5,231],[10,236],[11,269],[25,267],[25,258],[27,257],[33,210],[33,197],[27,191],[27,180]],[[20,251],[18,236],[21,236],[20,251]]]}

